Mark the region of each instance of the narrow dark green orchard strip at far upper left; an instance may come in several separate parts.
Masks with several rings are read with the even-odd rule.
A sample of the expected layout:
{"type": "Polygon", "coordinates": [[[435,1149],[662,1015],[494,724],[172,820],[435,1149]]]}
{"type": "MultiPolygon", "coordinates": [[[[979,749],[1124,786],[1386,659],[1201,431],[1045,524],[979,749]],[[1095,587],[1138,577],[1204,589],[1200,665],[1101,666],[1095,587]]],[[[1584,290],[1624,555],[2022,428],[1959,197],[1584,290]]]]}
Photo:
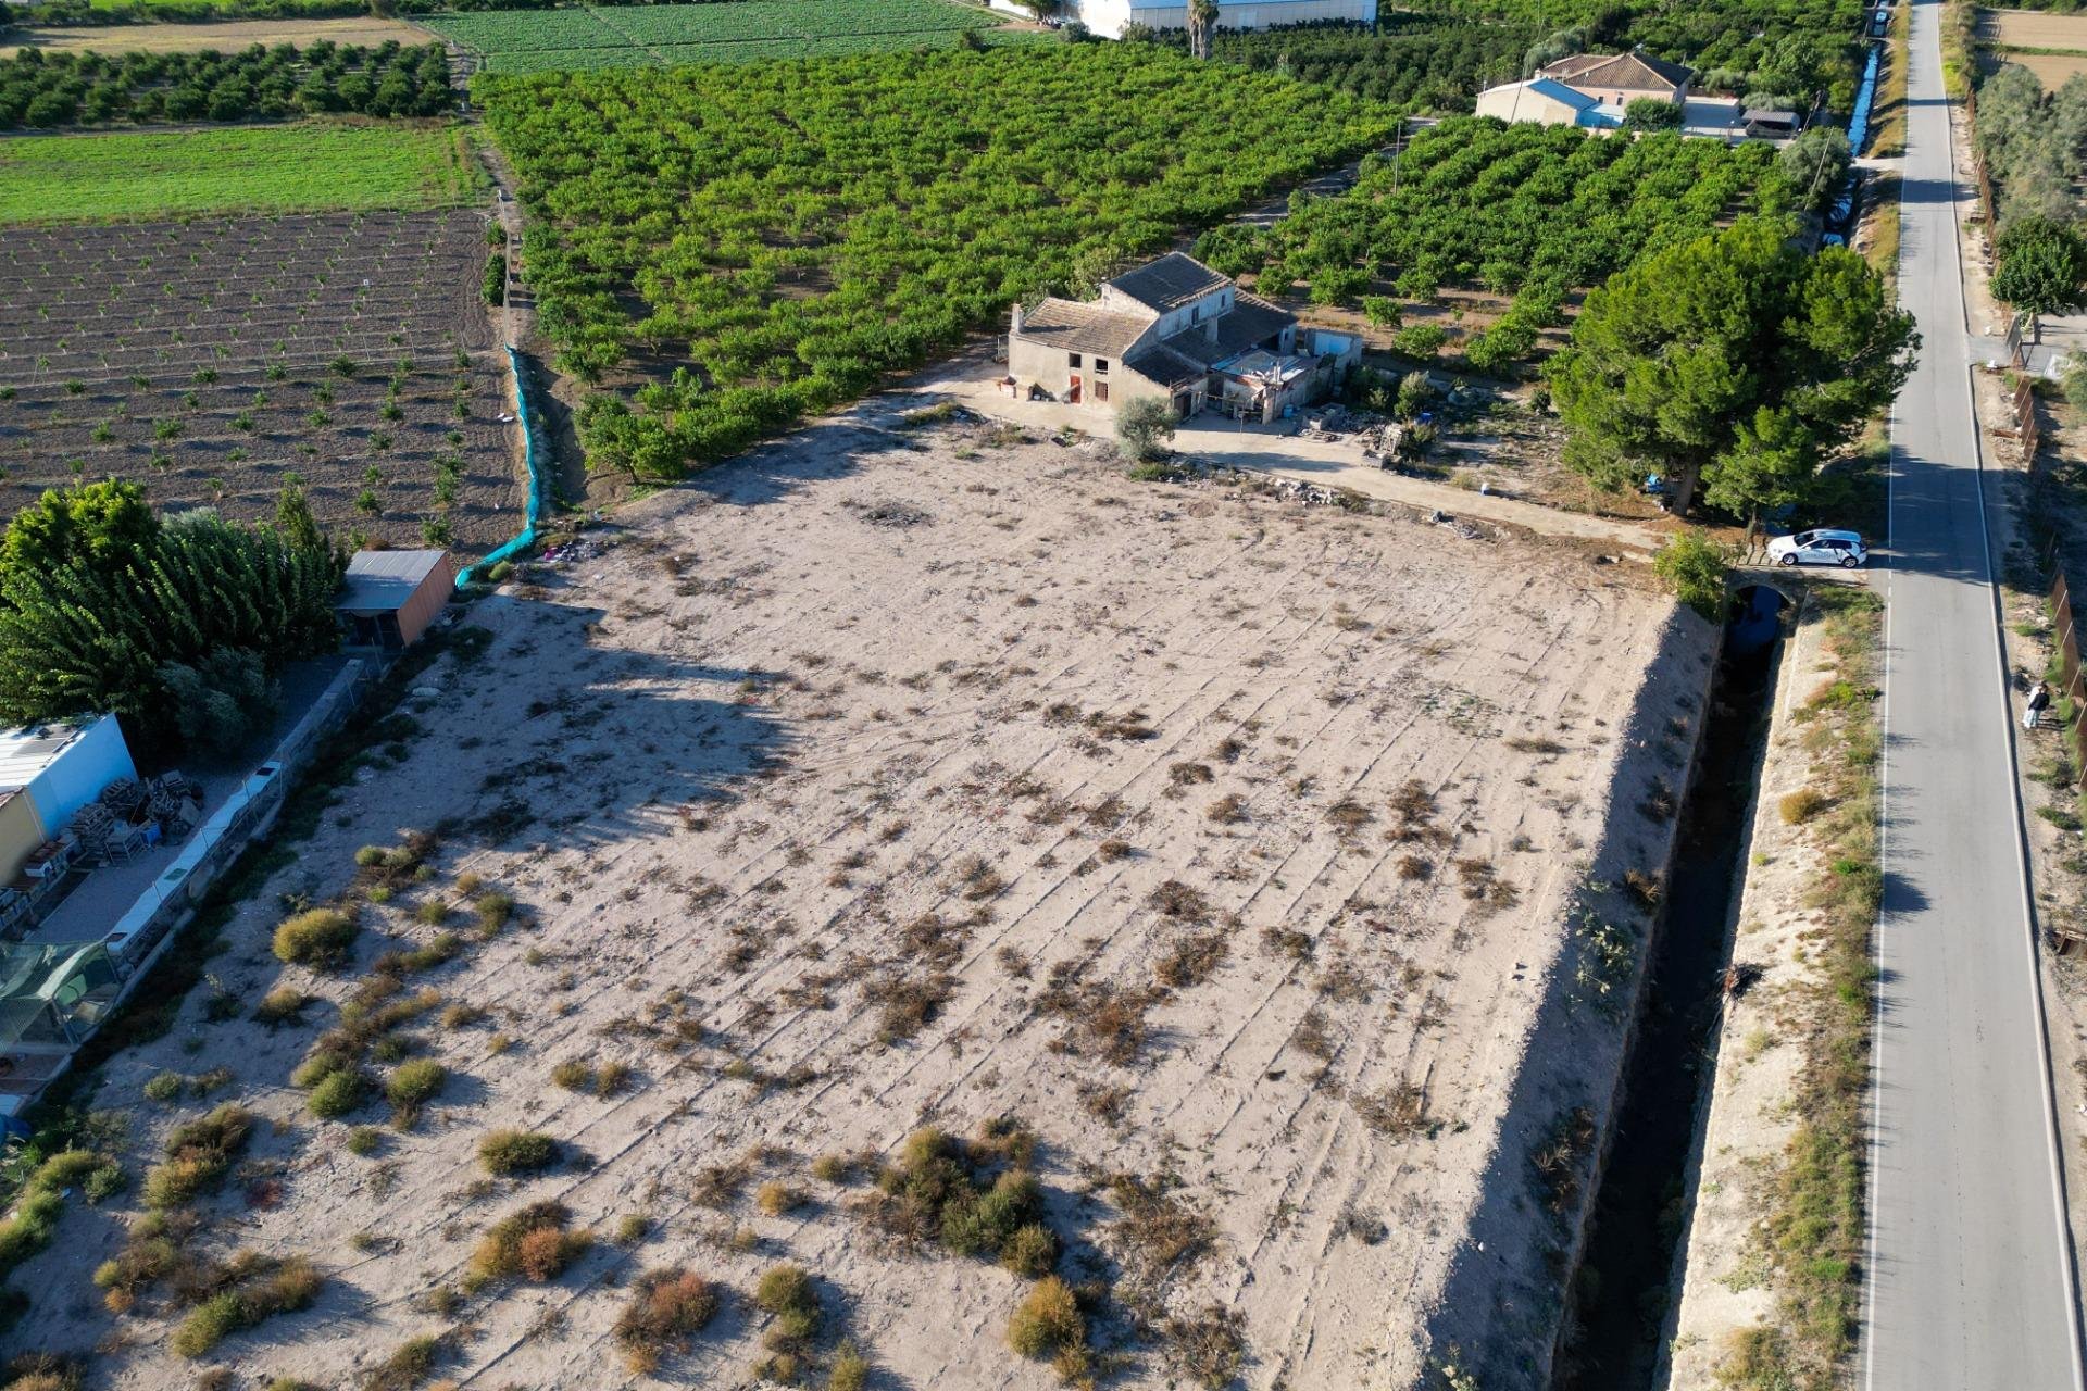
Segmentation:
{"type": "Polygon", "coordinates": [[[0,127],[323,113],[432,117],[451,100],[440,44],[342,48],[319,40],[305,50],[253,44],[236,54],[121,56],[23,48],[15,58],[0,58],[0,127]]]}

